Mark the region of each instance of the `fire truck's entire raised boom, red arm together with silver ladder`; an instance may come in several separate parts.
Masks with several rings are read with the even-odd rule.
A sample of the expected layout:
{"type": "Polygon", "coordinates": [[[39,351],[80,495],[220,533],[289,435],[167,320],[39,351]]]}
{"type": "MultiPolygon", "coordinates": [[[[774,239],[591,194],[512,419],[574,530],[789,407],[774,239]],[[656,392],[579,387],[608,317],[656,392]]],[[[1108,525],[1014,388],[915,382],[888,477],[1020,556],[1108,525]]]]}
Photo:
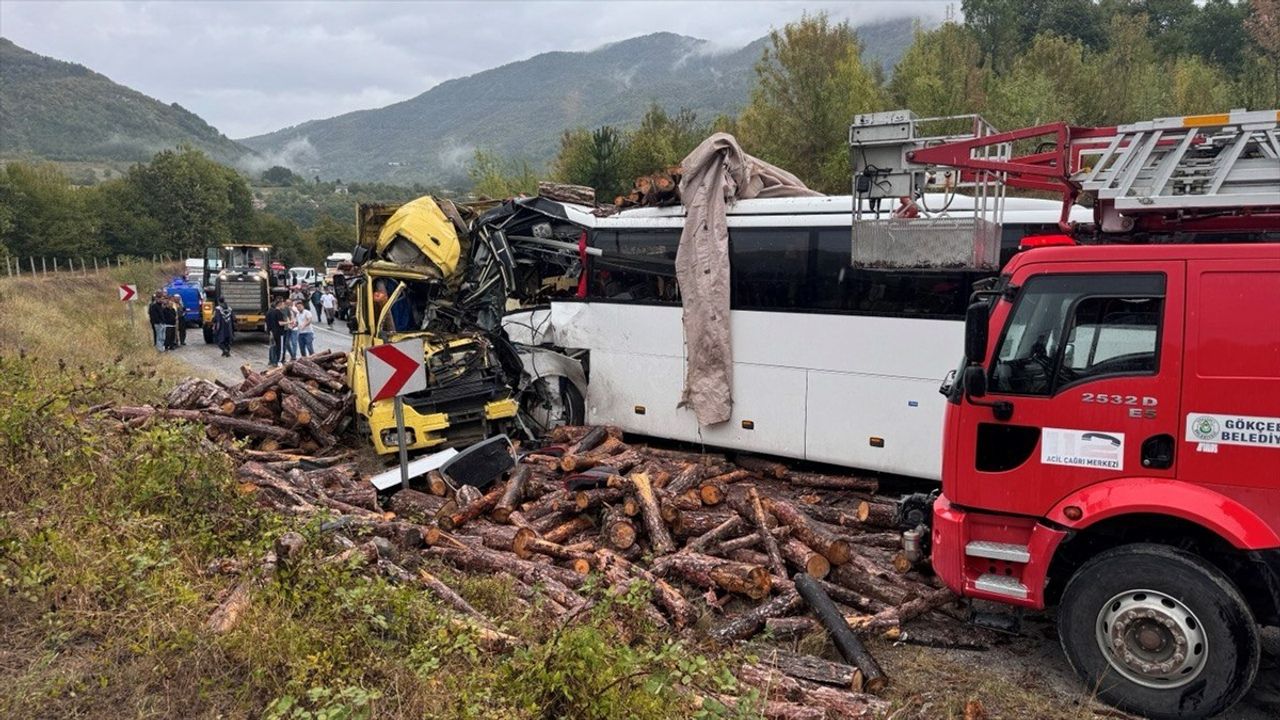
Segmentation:
{"type": "Polygon", "coordinates": [[[850,131],[855,176],[860,165],[870,167],[868,150],[877,152],[876,173],[911,178],[895,184],[895,191],[904,184],[928,190],[919,178],[937,168],[956,170],[961,184],[995,176],[1007,187],[1060,193],[1066,231],[1071,205],[1082,195],[1093,200],[1094,224],[1102,233],[1280,229],[1280,110],[1115,127],[1047,123],[969,137],[887,135],[895,124],[911,131],[940,119],[947,118],[916,119],[902,110],[859,115],[850,131]],[[860,141],[855,133],[872,140],[860,141]],[[992,152],[1032,143],[1034,152],[992,152]]]}

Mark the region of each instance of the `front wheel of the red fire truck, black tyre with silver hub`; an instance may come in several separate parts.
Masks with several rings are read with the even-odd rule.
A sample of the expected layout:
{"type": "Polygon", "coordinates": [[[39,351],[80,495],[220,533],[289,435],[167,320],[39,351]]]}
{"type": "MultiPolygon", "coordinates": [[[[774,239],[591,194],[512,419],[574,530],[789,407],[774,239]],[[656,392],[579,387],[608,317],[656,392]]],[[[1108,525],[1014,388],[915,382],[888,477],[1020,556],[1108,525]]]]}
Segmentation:
{"type": "Polygon", "coordinates": [[[1147,717],[1216,715],[1258,671],[1258,625],[1235,584],[1162,544],[1126,544],[1085,562],[1062,592],[1057,625],[1088,687],[1147,717]]]}

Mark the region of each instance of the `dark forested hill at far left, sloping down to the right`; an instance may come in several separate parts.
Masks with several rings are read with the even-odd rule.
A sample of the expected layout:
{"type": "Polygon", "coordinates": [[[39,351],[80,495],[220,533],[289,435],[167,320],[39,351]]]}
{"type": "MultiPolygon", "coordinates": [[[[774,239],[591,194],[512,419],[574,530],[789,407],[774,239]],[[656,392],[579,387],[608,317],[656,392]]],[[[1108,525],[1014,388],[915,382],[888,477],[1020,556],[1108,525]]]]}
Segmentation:
{"type": "Polygon", "coordinates": [[[178,145],[223,163],[251,152],[177,102],[0,37],[0,158],[134,161],[178,145]]]}

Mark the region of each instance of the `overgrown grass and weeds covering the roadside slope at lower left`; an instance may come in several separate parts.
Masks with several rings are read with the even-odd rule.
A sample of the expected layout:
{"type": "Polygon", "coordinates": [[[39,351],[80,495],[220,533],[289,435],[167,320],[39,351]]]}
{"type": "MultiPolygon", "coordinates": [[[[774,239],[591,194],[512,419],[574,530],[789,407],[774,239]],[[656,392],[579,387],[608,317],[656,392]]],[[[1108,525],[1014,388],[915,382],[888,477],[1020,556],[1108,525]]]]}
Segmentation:
{"type": "Polygon", "coordinates": [[[728,716],[692,698],[739,692],[730,660],[648,625],[636,597],[595,596],[562,626],[520,610],[503,578],[434,568],[520,639],[489,652],[428,593],[321,562],[319,520],[256,507],[201,428],[90,414],[183,374],[115,300],[116,282],[161,281],[145,266],[0,281],[0,717],[728,716]],[[211,632],[289,529],[302,557],[211,632]]]}

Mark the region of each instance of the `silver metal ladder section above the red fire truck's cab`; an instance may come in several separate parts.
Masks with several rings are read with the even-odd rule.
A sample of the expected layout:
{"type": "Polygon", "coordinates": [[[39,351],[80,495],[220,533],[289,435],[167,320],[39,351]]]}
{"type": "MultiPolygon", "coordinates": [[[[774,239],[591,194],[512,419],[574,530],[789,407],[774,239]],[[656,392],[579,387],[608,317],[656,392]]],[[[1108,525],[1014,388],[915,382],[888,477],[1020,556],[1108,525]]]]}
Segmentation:
{"type": "Polygon", "coordinates": [[[1280,208],[1280,113],[1161,118],[1117,126],[1101,152],[1073,154],[1083,192],[1103,209],[1102,231],[1132,229],[1126,215],[1280,208]]]}

